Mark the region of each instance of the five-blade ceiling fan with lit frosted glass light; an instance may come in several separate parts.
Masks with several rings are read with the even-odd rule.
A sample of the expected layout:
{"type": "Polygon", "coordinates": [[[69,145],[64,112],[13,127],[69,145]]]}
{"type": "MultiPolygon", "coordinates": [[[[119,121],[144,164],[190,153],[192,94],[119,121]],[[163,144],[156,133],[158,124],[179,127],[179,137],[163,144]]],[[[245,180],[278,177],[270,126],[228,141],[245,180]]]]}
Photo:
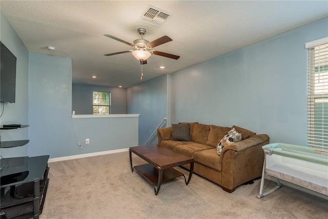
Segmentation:
{"type": "Polygon", "coordinates": [[[125,43],[125,44],[127,44],[129,46],[132,46],[132,47],[137,49],[137,50],[127,50],[127,51],[122,51],[122,52],[115,52],[115,53],[110,53],[110,54],[105,54],[105,55],[110,56],[110,55],[117,55],[117,54],[121,54],[121,53],[132,52],[132,55],[140,61],[141,65],[147,64],[147,58],[149,58],[152,54],[160,55],[160,56],[164,56],[164,57],[168,57],[168,58],[173,58],[173,59],[178,59],[180,57],[178,55],[173,55],[173,54],[169,54],[169,53],[166,53],[166,52],[150,50],[150,49],[152,49],[156,46],[159,46],[159,45],[162,45],[162,44],[165,44],[165,43],[168,43],[168,42],[172,41],[172,39],[170,37],[162,36],[162,37],[160,37],[158,39],[155,39],[154,41],[149,43],[149,41],[142,38],[142,35],[144,35],[146,33],[146,29],[139,28],[138,33],[141,35],[141,38],[136,39],[135,41],[133,41],[133,44],[128,43],[126,41],[123,41],[122,39],[119,39],[115,36],[105,34],[104,36],[115,39],[116,41],[119,41],[121,43],[125,43]]]}

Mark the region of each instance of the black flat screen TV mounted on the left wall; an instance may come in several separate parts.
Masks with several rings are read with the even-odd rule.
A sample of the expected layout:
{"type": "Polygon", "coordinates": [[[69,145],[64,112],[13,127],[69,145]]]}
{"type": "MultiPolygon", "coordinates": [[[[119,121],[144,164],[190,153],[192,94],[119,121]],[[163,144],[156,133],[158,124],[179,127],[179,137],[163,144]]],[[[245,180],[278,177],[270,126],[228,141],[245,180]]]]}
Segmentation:
{"type": "Polygon", "coordinates": [[[15,103],[16,57],[0,43],[0,101],[15,103]]]}

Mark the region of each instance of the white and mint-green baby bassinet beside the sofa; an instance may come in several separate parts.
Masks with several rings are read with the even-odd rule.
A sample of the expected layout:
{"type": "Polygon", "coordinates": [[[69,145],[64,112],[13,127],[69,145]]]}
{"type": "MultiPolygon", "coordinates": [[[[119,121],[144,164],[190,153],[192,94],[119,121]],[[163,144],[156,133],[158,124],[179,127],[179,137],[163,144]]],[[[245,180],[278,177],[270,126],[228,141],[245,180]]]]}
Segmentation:
{"type": "Polygon", "coordinates": [[[328,197],[328,150],[282,143],[268,144],[262,148],[265,159],[258,198],[279,189],[279,180],[328,197]],[[275,177],[277,185],[263,192],[265,174],[275,177]]]}

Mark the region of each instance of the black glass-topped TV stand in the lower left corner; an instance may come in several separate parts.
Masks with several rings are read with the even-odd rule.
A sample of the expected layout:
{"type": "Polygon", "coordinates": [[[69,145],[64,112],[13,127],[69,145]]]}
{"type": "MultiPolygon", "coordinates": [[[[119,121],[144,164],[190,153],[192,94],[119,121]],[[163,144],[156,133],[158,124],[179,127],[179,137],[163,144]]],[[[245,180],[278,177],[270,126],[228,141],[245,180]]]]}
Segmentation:
{"type": "Polygon", "coordinates": [[[48,159],[49,155],[0,160],[1,180],[7,181],[1,182],[1,219],[39,217],[49,183],[48,159]]]}

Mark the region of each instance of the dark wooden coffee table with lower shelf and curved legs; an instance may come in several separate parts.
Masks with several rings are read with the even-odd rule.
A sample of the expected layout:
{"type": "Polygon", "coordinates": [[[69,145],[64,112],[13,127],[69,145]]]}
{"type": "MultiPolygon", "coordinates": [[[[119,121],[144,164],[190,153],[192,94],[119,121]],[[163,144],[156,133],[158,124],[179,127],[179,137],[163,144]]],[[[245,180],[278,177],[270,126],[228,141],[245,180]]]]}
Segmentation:
{"type": "Polygon", "coordinates": [[[158,194],[162,182],[172,180],[178,176],[185,177],[183,173],[177,171],[173,167],[190,164],[188,181],[185,177],[186,185],[189,184],[191,176],[193,175],[194,159],[192,157],[181,155],[159,145],[131,147],[129,150],[129,156],[131,171],[133,172],[133,170],[136,169],[140,175],[144,176],[148,182],[153,184],[155,195],[158,194]],[[132,167],[131,152],[147,161],[148,164],[132,167]],[[156,183],[157,188],[155,187],[156,183]]]}

